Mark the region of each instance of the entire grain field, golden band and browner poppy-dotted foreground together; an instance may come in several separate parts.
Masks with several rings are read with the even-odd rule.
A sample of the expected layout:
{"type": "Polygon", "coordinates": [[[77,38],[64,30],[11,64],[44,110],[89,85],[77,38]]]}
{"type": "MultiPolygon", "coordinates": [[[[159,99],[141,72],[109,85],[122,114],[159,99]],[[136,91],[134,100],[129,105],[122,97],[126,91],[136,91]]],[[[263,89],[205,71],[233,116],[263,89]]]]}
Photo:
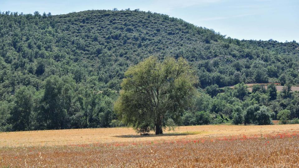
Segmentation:
{"type": "Polygon", "coordinates": [[[0,167],[299,167],[299,124],[0,133],[0,167]]]}

